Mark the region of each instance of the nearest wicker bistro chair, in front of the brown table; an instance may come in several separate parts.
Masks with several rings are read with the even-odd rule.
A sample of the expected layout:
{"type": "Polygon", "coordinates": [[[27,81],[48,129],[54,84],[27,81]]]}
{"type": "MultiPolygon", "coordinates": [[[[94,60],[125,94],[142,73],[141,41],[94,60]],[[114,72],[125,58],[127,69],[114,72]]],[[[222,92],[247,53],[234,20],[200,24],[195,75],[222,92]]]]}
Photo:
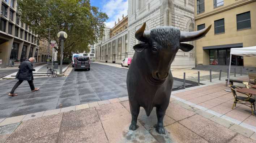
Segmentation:
{"type": "Polygon", "coordinates": [[[234,96],[234,104],[232,106],[232,109],[234,109],[234,107],[236,106],[236,103],[240,103],[240,104],[243,104],[243,105],[251,105],[251,106],[248,106],[248,107],[251,107],[251,111],[252,111],[252,115],[253,115],[253,109],[255,111],[255,99],[254,98],[250,98],[248,94],[245,94],[245,93],[242,93],[242,92],[239,92],[239,93],[242,93],[242,94],[245,94],[247,97],[243,97],[243,96],[237,96],[236,95],[236,89],[240,89],[239,87],[236,87],[236,86],[232,86],[232,85],[229,85],[229,87],[231,88],[231,91],[233,93],[233,96],[234,96]],[[245,103],[243,103],[245,102],[245,103]],[[249,103],[248,103],[249,102],[249,103]]]}

